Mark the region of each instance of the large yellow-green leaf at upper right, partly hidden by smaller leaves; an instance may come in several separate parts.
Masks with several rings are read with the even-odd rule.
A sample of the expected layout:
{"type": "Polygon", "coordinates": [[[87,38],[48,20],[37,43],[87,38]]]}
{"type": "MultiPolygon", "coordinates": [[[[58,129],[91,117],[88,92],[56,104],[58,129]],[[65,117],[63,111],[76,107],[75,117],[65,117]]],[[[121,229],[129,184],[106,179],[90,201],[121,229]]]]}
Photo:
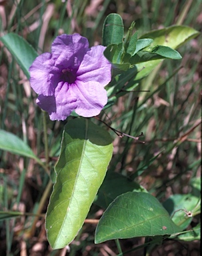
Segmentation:
{"type": "MultiPolygon", "coordinates": [[[[173,49],[179,48],[184,45],[187,41],[197,37],[199,32],[191,27],[174,25],[165,29],[158,29],[142,35],[140,38],[151,38],[153,43],[151,45],[164,45],[173,49]]],[[[138,41],[137,41],[138,42],[138,41]]],[[[139,73],[135,80],[142,79],[146,75],[149,75],[151,71],[161,62],[162,60],[148,61],[137,64],[139,73]]]]}

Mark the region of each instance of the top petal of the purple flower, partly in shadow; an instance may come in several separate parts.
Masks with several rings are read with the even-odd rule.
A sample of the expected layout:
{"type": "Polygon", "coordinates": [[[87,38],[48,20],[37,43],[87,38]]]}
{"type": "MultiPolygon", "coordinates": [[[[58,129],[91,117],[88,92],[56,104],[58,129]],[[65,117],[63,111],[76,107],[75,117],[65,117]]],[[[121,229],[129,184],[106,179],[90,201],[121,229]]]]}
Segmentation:
{"type": "Polygon", "coordinates": [[[56,66],[77,69],[88,48],[89,42],[85,37],[81,37],[79,34],[63,34],[53,41],[51,53],[56,66]]]}

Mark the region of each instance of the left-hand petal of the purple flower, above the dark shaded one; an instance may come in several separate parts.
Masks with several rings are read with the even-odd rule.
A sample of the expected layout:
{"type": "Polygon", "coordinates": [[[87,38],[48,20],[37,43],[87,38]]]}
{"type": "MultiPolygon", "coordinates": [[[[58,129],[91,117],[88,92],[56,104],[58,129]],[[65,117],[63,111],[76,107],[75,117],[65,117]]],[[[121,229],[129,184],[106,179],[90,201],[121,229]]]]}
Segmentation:
{"type": "Polygon", "coordinates": [[[39,55],[29,68],[30,85],[38,94],[53,95],[58,83],[58,68],[54,66],[51,53],[39,55]]]}

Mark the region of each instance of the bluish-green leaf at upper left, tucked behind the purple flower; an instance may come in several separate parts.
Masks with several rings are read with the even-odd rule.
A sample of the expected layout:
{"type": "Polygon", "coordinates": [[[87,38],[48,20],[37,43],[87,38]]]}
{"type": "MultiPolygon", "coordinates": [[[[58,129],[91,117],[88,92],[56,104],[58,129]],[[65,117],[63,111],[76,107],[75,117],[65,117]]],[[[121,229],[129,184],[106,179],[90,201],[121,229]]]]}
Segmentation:
{"type": "Polygon", "coordinates": [[[33,49],[23,37],[15,33],[8,33],[0,38],[5,47],[15,57],[17,63],[29,79],[29,67],[38,56],[38,53],[33,49]]]}

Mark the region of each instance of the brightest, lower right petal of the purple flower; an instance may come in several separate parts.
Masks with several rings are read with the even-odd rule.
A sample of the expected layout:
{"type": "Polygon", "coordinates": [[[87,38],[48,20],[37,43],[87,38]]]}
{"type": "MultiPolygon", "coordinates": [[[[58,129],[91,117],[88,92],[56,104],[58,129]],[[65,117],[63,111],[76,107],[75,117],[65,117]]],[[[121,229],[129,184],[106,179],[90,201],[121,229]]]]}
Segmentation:
{"type": "Polygon", "coordinates": [[[77,97],[75,112],[82,117],[99,115],[107,104],[107,91],[97,82],[77,82],[69,88],[69,91],[71,91],[71,95],[77,97]]]}

